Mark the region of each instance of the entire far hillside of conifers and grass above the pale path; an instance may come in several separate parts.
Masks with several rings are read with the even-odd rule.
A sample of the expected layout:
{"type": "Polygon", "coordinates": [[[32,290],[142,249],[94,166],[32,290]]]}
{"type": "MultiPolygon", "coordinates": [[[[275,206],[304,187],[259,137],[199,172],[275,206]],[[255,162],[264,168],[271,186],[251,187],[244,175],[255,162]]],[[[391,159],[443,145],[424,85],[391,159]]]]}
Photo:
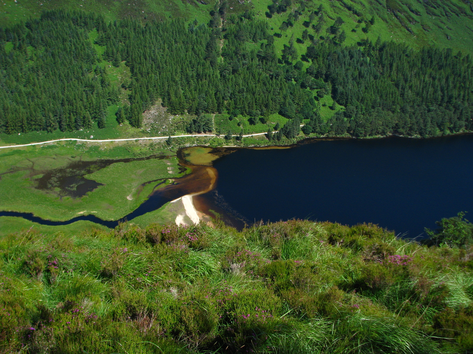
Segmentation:
{"type": "MultiPolygon", "coordinates": [[[[182,122],[175,120],[179,127],[163,126],[163,132],[184,126],[187,132],[215,129],[227,135],[269,131],[264,125],[278,114],[310,121],[306,135],[436,136],[472,130],[472,64],[465,53],[471,49],[473,15],[466,3],[191,1],[162,4],[168,12],[143,0],[133,6],[105,3],[82,6],[95,10],[92,15],[58,11],[57,3],[48,1],[44,9],[53,12],[1,31],[6,86],[0,131],[30,132],[23,141],[41,139],[42,130],[56,132],[51,137],[87,136],[95,126],[104,129],[96,137],[158,134],[142,116],[156,102],[168,113],[184,115],[182,122]],[[67,59],[51,61],[64,42],[49,35],[56,32],[72,39],[70,55],[63,58],[77,58],[69,65],[67,59]],[[446,47],[453,51],[442,50],[446,47]],[[44,67],[48,73],[35,81],[44,67]],[[77,87],[63,88],[61,77],[78,77],[77,87]],[[205,115],[215,113],[218,122],[206,125],[205,115]],[[225,121],[226,114],[238,121],[225,121]]],[[[62,6],[76,5],[83,4],[62,6]]],[[[13,7],[18,6],[28,7],[13,7]]],[[[283,135],[291,139],[298,133],[295,126],[290,122],[283,135]]]]}

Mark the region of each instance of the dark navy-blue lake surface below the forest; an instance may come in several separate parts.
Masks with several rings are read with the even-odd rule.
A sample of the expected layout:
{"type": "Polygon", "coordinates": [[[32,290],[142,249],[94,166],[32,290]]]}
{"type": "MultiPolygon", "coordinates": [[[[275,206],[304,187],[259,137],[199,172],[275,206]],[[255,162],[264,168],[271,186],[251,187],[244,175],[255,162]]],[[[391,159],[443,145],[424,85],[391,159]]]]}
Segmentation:
{"type": "Polygon", "coordinates": [[[473,212],[473,135],[240,149],[214,167],[219,172],[214,196],[248,223],[372,222],[415,237],[424,227],[436,228],[436,220],[473,212]]]}

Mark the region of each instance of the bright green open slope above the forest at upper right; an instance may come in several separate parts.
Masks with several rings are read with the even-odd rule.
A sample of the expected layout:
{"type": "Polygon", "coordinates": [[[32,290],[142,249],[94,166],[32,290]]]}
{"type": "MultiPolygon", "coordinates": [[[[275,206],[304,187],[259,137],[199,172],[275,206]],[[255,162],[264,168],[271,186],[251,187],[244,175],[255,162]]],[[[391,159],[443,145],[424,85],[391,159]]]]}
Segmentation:
{"type": "Polygon", "coordinates": [[[266,16],[271,0],[252,3],[257,16],[264,19],[275,34],[281,34],[275,42],[279,55],[291,36],[297,40],[294,45],[299,55],[306,52],[312,37],[316,40],[320,40],[320,36],[332,37],[327,30],[337,17],[343,21],[339,35],[344,32],[345,45],[366,40],[375,42],[380,36],[382,41],[404,43],[416,50],[435,45],[471,53],[473,48],[473,11],[468,2],[460,0],[294,1],[286,11],[274,12],[271,18],[266,16]],[[287,29],[281,30],[284,22],[287,29]],[[305,30],[307,38],[303,38],[305,30]]]}

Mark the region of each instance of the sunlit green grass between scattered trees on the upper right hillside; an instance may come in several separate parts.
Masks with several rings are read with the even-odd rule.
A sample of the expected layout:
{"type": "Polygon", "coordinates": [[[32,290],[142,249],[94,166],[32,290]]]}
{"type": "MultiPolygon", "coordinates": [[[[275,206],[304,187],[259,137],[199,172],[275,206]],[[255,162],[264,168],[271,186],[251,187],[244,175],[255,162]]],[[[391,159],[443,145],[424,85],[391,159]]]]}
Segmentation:
{"type": "MultiPolygon", "coordinates": [[[[345,1],[348,3],[348,1],[345,1]]],[[[455,51],[462,52],[472,52],[473,48],[473,16],[470,8],[464,2],[450,0],[443,2],[444,8],[454,8],[458,13],[447,17],[442,10],[437,10],[438,16],[431,16],[427,13],[426,8],[420,5],[417,1],[407,0],[398,2],[396,0],[389,1],[391,6],[395,4],[396,15],[400,20],[407,24],[408,27],[412,30],[413,34],[409,33],[405,27],[401,24],[400,20],[395,18],[392,12],[388,12],[385,6],[381,6],[375,1],[360,0],[355,2],[350,2],[350,6],[358,10],[363,16],[358,17],[350,12],[348,9],[343,7],[341,1],[332,1],[332,2],[320,2],[320,1],[307,1],[306,10],[299,17],[298,21],[295,22],[293,27],[288,28],[287,31],[282,32],[282,37],[275,37],[275,43],[277,52],[280,55],[281,50],[283,49],[283,44],[288,44],[291,36],[294,36],[294,44],[298,50],[299,55],[306,52],[306,47],[310,44],[310,41],[307,40],[305,43],[298,43],[296,40],[301,39],[302,32],[306,29],[303,25],[305,21],[309,21],[310,11],[317,10],[320,4],[324,7],[325,13],[325,22],[322,26],[322,30],[316,36],[326,36],[325,31],[328,27],[333,25],[334,19],[341,17],[344,21],[344,24],[341,26],[341,31],[344,30],[347,36],[345,45],[356,45],[357,42],[363,40],[371,40],[375,42],[379,37],[382,41],[394,41],[398,43],[405,43],[413,48],[419,49],[422,46],[428,45],[437,45],[443,48],[452,48],[455,51]],[[420,16],[413,15],[408,7],[411,7],[420,16]],[[331,18],[333,19],[331,19],[331,18]],[[359,20],[370,20],[371,17],[375,17],[375,23],[371,26],[368,33],[364,33],[362,28],[365,26],[365,23],[359,24],[359,20]],[[434,18],[435,17],[435,18],[434,18]],[[414,22],[413,24],[410,22],[414,22]],[[426,31],[422,28],[422,25],[429,31],[426,31]],[[428,27],[429,28],[428,28],[428,27]],[[447,29],[447,26],[451,30],[447,29]],[[352,32],[356,30],[356,32],[352,32]],[[447,35],[450,37],[450,40],[447,39],[447,35]]],[[[265,12],[268,11],[267,6],[271,4],[271,1],[252,1],[254,6],[254,11],[256,15],[265,21],[267,21],[272,32],[275,34],[280,34],[279,27],[283,21],[286,21],[290,10],[283,12],[281,14],[274,14],[272,18],[267,18],[265,12]]],[[[293,4],[292,9],[297,9],[298,4],[293,4]]],[[[430,12],[435,12],[433,8],[428,8],[430,12]]],[[[450,14],[451,12],[449,12],[450,14]]],[[[314,23],[317,22],[317,17],[315,18],[314,23]]],[[[307,28],[309,34],[314,35],[315,32],[309,26],[307,28]]],[[[307,67],[309,63],[305,63],[307,67]]]]}

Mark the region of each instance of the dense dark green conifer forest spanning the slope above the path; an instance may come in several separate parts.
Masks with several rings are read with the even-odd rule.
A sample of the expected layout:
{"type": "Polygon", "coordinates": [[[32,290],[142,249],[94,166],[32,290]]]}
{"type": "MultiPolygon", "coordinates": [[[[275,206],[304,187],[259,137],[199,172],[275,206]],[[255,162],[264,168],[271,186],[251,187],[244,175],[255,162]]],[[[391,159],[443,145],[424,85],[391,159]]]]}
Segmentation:
{"type": "MultiPolygon", "coordinates": [[[[119,90],[127,90],[129,100],[121,102],[117,120],[135,127],[160,98],[169,112],[195,117],[189,132],[212,131],[201,115],[222,112],[229,119],[242,114],[250,123],[272,113],[306,119],[303,132],[317,135],[435,136],[473,129],[469,55],[434,47],[415,51],[379,39],[346,47],[337,18],[324,40],[305,36],[306,53],[299,56],[289,38],[278,57],[264,21],[251,11],[225,11],[225,5],[216,7],[208,23],[145,25],[50,11],[2,29],[1,131],[103,127],[106,107],[119,103],[119,90]],[[122,88],[97,66],[90,31],[98,32],[95,42],[105,46],[104,59],[130,68],[131,81],[122,88]],[[305,69],[302,60],[310,63],[305,69]],[[328,120],[318,114],[317,101],[325,95],[344,107],[328,120]]],[[[320,24],[324,13],[312,15],[320,24]]],[[[284,135],[296,135],[297,126],[289,121],[284,135]]]]}

